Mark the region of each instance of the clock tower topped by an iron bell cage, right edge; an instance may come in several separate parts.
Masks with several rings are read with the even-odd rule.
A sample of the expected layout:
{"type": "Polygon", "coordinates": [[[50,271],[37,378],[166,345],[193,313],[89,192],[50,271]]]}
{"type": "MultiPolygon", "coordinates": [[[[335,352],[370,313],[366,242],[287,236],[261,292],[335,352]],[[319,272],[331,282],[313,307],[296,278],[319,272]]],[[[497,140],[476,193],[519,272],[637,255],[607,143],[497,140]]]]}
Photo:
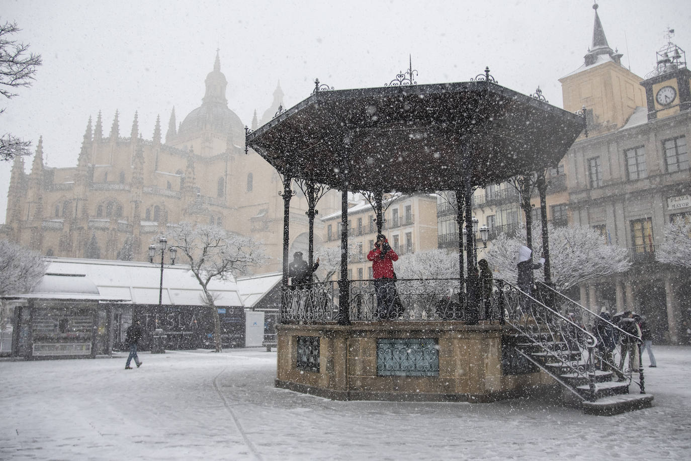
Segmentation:
{"type": "Polygon", "coordinates": [[[648,120],[691,109],[691,70],[686,68],[684,50],[672,43],[672,35],[674,30],[668,30],[667,45],[657,52],[655,70],[641,82],[648,120]]]}

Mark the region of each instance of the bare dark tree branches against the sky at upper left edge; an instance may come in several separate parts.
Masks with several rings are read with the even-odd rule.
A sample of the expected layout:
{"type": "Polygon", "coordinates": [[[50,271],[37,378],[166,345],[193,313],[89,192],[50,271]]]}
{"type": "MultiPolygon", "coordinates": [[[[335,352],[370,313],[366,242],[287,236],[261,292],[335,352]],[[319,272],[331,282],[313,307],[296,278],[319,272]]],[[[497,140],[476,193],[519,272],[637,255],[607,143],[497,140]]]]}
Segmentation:
{"type": "MultiPolygon", "coordinates": [[[[0,95],[10,99],[17,96],[15,88],[31,86],[41,55],[28,53],[28,45],[12,40],[19,32],[17,23],[0,24],[0,95]],[[28,54],[27,54],[28,53],[28,54]]],[[[5,109],[0,109],[3,113],[5,109]]],[[[0,136],[0,160],[12,160],[15,156],[30,155],[30,141],[24,141],[10,133],[0,136]]]]}

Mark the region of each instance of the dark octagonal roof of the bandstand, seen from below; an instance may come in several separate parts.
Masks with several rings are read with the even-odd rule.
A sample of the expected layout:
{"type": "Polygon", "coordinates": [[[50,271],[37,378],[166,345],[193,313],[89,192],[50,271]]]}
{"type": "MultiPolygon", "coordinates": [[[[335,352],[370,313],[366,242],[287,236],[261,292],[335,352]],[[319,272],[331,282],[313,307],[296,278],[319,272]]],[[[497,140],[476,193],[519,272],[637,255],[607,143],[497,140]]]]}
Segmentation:
{"type": "MultiPolygon", "coordinates": [[[[544,99],[544,98],[543,98],[544,99]]],[[[278,171],[350,190],[460,189],[555,166],[584,117],[484,81],[315,91],[247,135],[278,171]]]]}

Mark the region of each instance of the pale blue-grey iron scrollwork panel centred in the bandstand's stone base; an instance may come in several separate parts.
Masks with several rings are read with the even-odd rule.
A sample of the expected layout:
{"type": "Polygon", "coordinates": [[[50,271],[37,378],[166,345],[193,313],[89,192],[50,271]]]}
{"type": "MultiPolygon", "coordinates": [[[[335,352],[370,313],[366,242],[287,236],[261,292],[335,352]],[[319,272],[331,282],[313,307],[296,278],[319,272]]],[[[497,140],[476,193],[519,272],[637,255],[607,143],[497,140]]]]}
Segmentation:
{"type": "Polygon", "coordinates": [[[439,339],[377,339],[377,376],[439,376],[439,339]]]}

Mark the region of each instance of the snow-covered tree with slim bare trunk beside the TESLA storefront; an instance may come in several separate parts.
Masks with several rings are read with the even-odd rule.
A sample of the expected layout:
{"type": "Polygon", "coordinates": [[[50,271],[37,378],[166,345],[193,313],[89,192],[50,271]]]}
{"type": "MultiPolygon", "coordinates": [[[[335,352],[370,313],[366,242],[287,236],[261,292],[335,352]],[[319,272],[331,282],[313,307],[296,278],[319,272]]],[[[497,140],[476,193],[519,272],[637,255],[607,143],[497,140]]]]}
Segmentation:
{"type": "Polygon", "coordinates": [[[168,233],[169,243],[178,247],[180,256],[187,260],[202,288],[202,301],[214,318],[214,346],[216,352],[220,352],[220,317],[209,282],[249,274],[252,267],[265,261],[263,245],[250,237],[231,234],[211,225],[180,223],[170,225],[168,233]]]}

